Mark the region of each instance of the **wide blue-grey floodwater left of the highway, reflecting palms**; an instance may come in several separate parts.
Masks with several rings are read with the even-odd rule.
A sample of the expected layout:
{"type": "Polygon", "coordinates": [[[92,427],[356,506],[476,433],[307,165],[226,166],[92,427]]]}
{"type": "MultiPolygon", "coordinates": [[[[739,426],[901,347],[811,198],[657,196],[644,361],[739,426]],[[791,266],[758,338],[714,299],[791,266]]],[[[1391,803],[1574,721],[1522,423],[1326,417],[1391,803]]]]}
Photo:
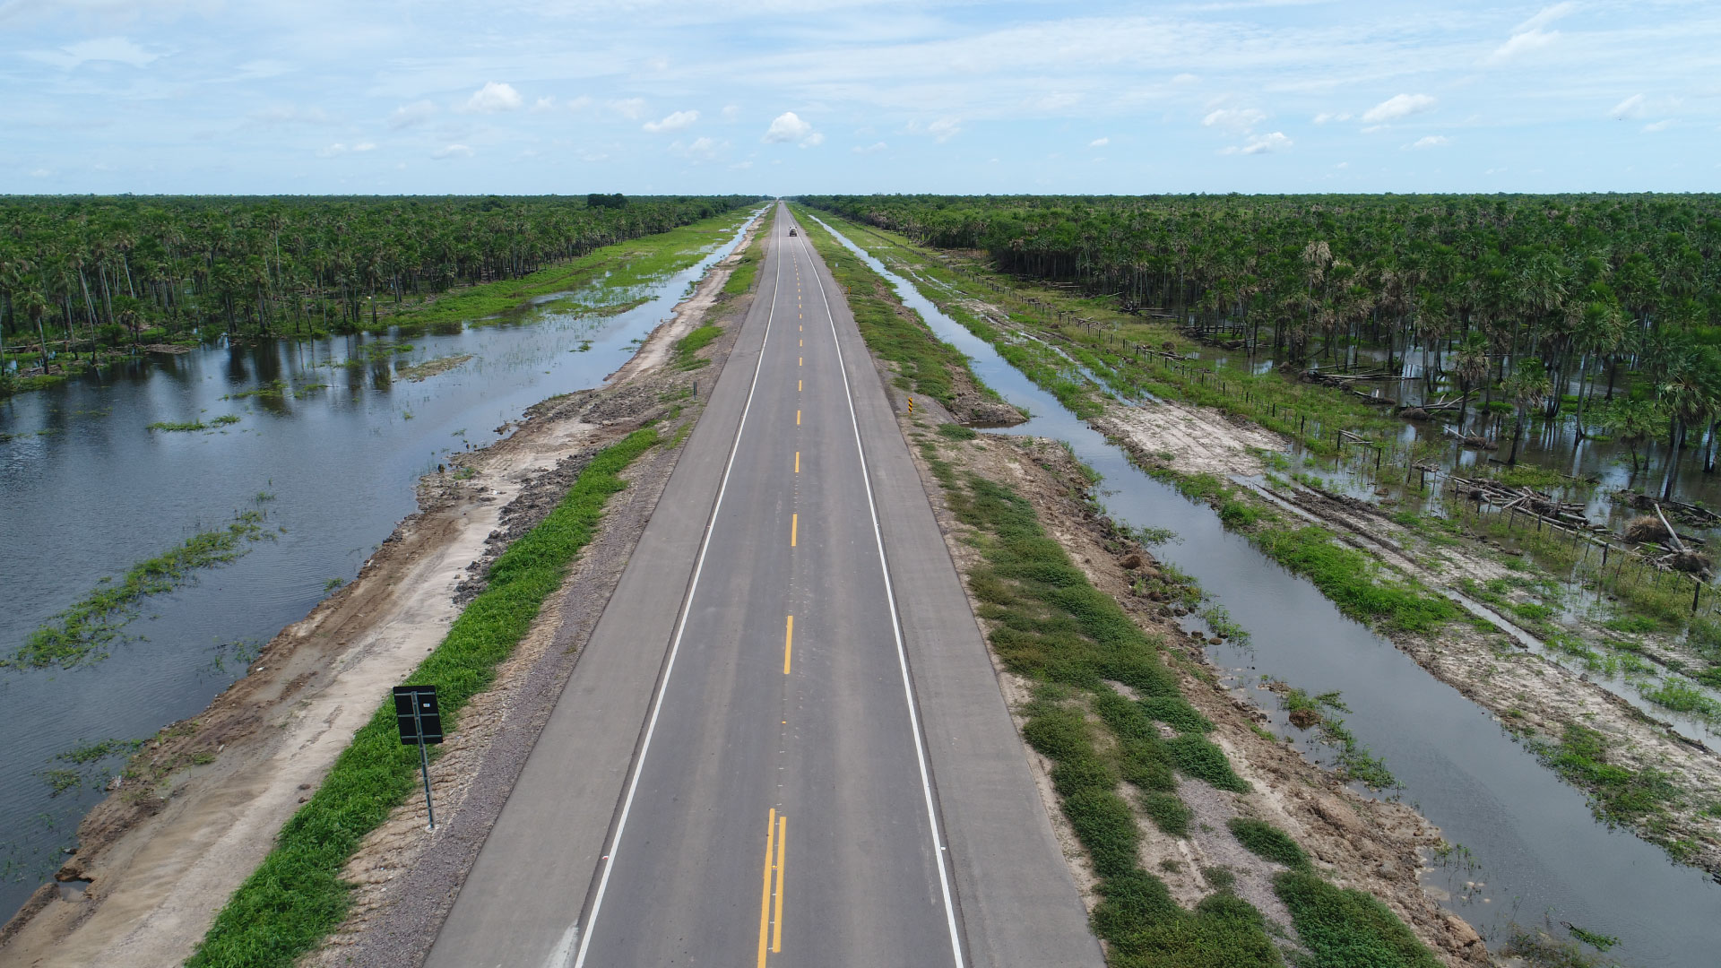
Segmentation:
{"type": "Polygon", "coordinates": [[[77,820],[105,796],[103,770],[122,761],[84,765],[84,782],[55,794],[48,770],[72,766],[57,756],[203,710],[256,648],[358,572],[416,508],[420,475],[499,439],[527,406],[602,382],[743,231],[680,272],[628,289],[595,281],[501,322],[153,353],[0,400],[5,655],[105,575],[236,512],[262,512],[270,536],[145,599],[110,658],[0,668],[0,921],[59,866],[77,820]],[[645,301],[618,315],[582,310],[635,300],[645,301]],[[460,355],[472,358],[422,382],[399,375],[460,355]],[[234,398],[274,381],[291,389],[234,398]],[[146,431],[227,413],[239,420],[146,431]]]}

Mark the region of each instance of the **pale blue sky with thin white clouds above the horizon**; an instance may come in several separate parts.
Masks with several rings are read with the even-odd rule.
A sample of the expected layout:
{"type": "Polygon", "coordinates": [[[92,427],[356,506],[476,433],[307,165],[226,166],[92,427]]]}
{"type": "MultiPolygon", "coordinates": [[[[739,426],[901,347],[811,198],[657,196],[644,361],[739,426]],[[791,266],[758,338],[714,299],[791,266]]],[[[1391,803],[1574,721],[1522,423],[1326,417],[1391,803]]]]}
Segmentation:
{"type": "Polygon", "coordinates": [[[0,193],[1716,189],[1718,0],[0,0],[0,193]]]}

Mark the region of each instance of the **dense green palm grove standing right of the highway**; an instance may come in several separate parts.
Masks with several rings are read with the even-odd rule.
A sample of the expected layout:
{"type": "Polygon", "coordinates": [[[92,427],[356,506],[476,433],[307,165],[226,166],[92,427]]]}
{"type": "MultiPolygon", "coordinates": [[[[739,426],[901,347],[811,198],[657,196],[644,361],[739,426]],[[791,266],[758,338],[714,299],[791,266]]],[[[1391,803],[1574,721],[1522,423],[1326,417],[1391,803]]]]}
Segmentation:
{"type": "MultiPolygon", "coordinates": [[[[1305,370],[1384,355],[1456,412],[1700,451],[1721,419],[1721,196],[807,196],[1305,370]]],[[[1671,477],[1669,477],[1671,484],[1671,477]]]]}

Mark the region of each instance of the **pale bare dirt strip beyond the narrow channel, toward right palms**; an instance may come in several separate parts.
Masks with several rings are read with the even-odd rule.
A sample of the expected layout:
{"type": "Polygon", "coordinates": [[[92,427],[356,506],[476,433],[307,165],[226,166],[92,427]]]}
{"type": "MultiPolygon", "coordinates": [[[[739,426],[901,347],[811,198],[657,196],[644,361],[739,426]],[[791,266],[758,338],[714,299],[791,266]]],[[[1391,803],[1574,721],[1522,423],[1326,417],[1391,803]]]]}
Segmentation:
{"type": "MultiPolygon", "coordinates": [[[[1186,405],[1115,406],[1093,424],[1144,467],[1165,463],[1182,474],[1260,474],[1261,463],[1248,448],[1282,446],[1258,427],[1186,405]],[[1255,437],[1268,443],[1253,443],[1255,437]]],[[[1451,536],[1430,543],[1366,501],[1291,482],[1272,491],[1272,503],[1277,510],[1299,512],[1303,520],[1294,524],[1317,522],[1439,594],[1451,596],[1465,580],[1487,584],[1514,575],[1485,546],[1451,536]]],[[[1521,591],[1513,598],[1528,601],[1521,591]]],[[[1502,610],[1501,617],[1509,620],[1509,611],[1502,610]]],[[[1654,839],[1683,842],[1688,863],[1721,872],[1721,816],[1707,811],[1709,804],[1721,803],[1721,756],[1712,749],[1680,735],[1588,675],[1525,649],[1504,632],[1449,622],[1437,634],[1387,637],[1437,679],[1494,713],[1502,727],[1558,742],[1568,725],[1582,725],[1606,737],[1609,763],[1666,777],[1680,796],[1656,818],[1664,828],[1654,839]]]]}

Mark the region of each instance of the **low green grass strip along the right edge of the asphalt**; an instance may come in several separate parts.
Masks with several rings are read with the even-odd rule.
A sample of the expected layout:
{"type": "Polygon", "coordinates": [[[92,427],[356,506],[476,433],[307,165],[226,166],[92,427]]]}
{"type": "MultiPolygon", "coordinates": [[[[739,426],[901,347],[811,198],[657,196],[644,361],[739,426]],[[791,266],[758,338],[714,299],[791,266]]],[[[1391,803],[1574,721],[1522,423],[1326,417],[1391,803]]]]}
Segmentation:
{"type": "MultiPolygon", "coordinates": [[[[836,245],[816,226],[811,233],[828,246],[836,245]]],[[[847,253],[821,250],[821,255],[835,262],[847,253]]],[[[848,255],[842,262],[847,269],[857,260],[848,255]]],[[[866,282],[859,274],[845,284],[866,282]]],[[[885,301],[879,289],[860,293],[862,300],[885,301]]],[[[890,303],[881,310],[897,317],[890,303]]],[[[941,350],[950,350],[921,326],[862,326],[862,336],[883,358],[936,360],[941,350]]],[[[941,458],[941,446],[957,446],[972,431],[940,427],[936,436],[914,436],[952,512],[971,529],[965,541],[981,553],[981,563],[969,568],[965,580],[981,603],[988,641],[1005,668],[1034,684],[1033,701],[1022,710],[1024,739],[1055,763],[1052,782],[1058,803],[1100,878],[1105,901],[1093,913],[1093,927],[1112,946],[1110,965],[1282,965],[1284,954],[1265,918],[1234,890],[1218,889],[1189,911],[1172,899],[1160,877],[1141,866],[1138,806],[1126,799],[1122,784],[1136,791],[1139,815],[1169,835],[1187,834],[1193,818],[1177,796],[1177,773],[1224,791],[1249,789],[1225,753],[1206,739],[1213,723],[1184,699],[1160,641],[1088,582],[1064,546],[1041,529],[1033,505],[1010,487],[962,474],[941,458]],[[1127,686],[1139,699],[1124,696],[1112,682],[1127,686]],[[1175,730],[1175,737],[1162,737],[1158,723],[1175,730]]],[[[1291,844],[1301,858],[1286,834],[1258,820],[1251,823],[1246,846],[1291,844]]],[[[1292,927],[1310,952],[1305,965],[1437,965],[1379,901],[1327,884],[1306,861],[1282,873],[1274,887],[1291,908],[1292,927]]]]}

